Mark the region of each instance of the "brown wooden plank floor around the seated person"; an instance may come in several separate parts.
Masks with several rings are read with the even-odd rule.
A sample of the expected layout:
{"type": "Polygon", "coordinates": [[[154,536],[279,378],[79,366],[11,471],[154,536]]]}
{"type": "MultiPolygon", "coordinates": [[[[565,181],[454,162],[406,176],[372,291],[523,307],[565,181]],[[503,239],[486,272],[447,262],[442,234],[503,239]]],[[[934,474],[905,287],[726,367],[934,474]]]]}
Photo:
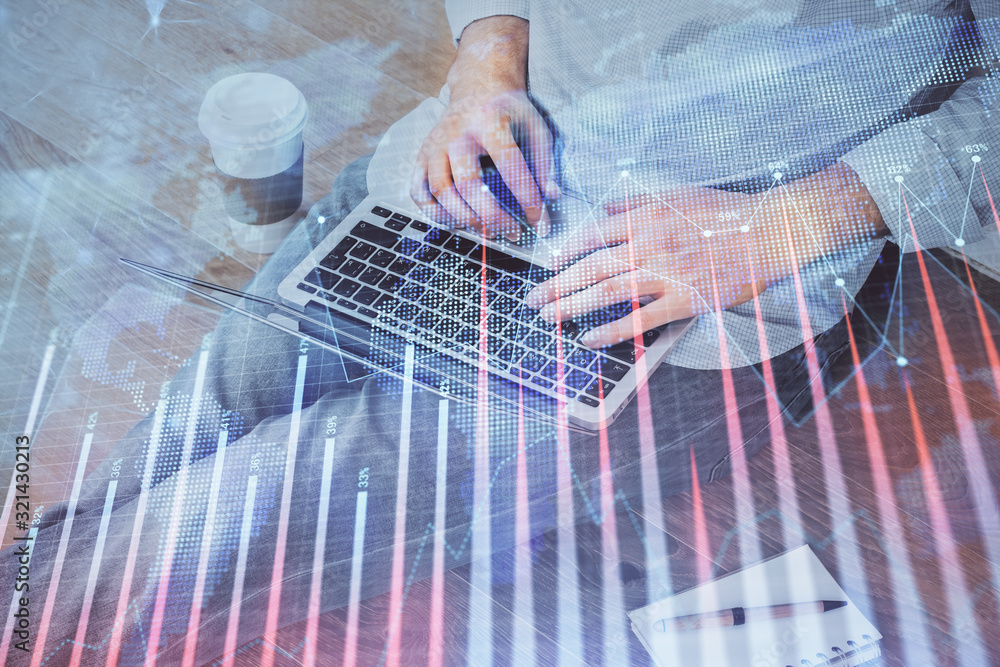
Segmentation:
{"type": "MultiPolygon", "coordinates": [[[[197,128],[208,87],[255,69],[303,91],[310,104],[305,209],[395,119],[437,94],[454,52],[441,3],[425,0],[50,4],[46,13],[42,3],[0,2],[0,431],[12,442],[34,420],[32,493],[42,505],[69,495],[77,462],[61,453],[65,445],[90,427],[89,467],[96,465],[218,318],[137,283],[117,258],[233,286],[266,260],[234,244],[222,215],[197,128]]],[[[883,664],[906,664],[906,655],[918,654],[913,647],[926,647],[934,665],[976,664],[969,658],[976,655],[981,664],[1000,664],[1000,598],[990,583],[1000,563],[991,566],[998,554],[989,546],[996,549],[1000,534],[984,534],[975,510],[976,494],[995,498],[1000,489],[1000,369],[988,356],[989,345],[1000,347],[1000,286],[945,254],[924,261],[926,281],[916,256],[907,255],[898,274],[883,267],[872,282],[865,312],[876,321],[890,313],[885,337],[853,318],[867,361],[857,372],[842,358],[840,384],[828,388],[825,402],[783,439],[772,433],[777,441],[751,460],[752,498],[742,499],[749,516],[740,515],[727,478],[666,499],[662,516],[650,517],[669,545],[674,590],[738,569],[747,553],[767,557],[807,542],[852,595],[870,596],[871,620],[885,635],[883,664]],[[909,361],[905,370],[899,354],[909,361]],[[967,475],[974,443],[987,462],[972,471],[981,485],[967,475]],[[855,551],[860,571],[843,567],[855,551]],[[901,572],[913,590],[894,589],[901,572]],[[918,609],[923,627],[901,627],[900,607],[918,609]]],[[[2,494],[12,467],[4,445],[2,494]]],[[[577,528],[585,641],[575,657],[585,664],[648,664],[624,619],[619,637],[601,630],[606,572],[618,572],[626,609],[646,602],[639,523],[627,510],[616,516],[620,565],[610,569],[600,527],[577,528]]],[[[554,535],[532,544],[538,664],[562,655],[554,544],[554,535]]],[[[498,554],[494,572],[509,570],[512,559],[498,554]]],[[[513,585],[502,579],[490,591],[497,664],[516,661],[513,585]]],[[[462,664],[469,568],[447,572],[445,583],[444,663],[462,664]]],[[[388,604],[388,596],[362,604],[359,664],[383,658],[388,604]]],[[[404,609],[403,664],[428,660],[429,605],[429,582],[415,582],[404,609]]],[[[321,619],[324,664],[340,662],[345,616],[321,619]]],[[[280,632],[279,663],[301,664],[303,634],[304,625],[280,632]]],[[[249,645],[238,662],[256,664],[259,650],[249,645]]]]}

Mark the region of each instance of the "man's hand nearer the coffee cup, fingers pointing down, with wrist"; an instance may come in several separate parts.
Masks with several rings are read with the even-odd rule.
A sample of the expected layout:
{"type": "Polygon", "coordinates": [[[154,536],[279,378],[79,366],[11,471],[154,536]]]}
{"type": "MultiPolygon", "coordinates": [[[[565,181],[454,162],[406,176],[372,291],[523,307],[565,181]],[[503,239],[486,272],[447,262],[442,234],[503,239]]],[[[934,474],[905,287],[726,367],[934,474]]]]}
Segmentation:
{"type": "Polygon", "coordinates": [[[494,16],[462,33],[448,73],[451,99],[424,140],[410,195],[430,217],[493,238],[516,240],[520,225],[484,186],[479,158],[489,155],[541,236],[549,230],[545,198],[559,195],[552,136],[528,99],[528,23],[494,16]],[[515,140],[520,138],[525,159],[515,140]]]}

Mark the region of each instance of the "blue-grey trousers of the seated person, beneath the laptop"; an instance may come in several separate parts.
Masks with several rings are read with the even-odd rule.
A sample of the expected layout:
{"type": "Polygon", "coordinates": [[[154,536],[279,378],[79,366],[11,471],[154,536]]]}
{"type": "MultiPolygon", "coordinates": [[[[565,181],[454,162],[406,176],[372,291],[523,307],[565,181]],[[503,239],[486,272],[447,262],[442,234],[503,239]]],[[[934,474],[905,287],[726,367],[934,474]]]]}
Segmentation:
{"type": "MultiPolygon", "coordinates": [[[[292,232],[247,287],[248,291],[275,296],[275,288],[286,273],[322,239],[334,221],[364,198],[366,169],[367,160],[359,160],[341,174],[331,196],[317,204],[309,218],[292,232]],[[327,222],[318,224],[318,214],[328,218],[327,222]]],[[[817,338],[824,368],[842,351],[845,336],[842,322],[817,338]]],[[[802,400],[808,401],[809,394],[802,347],[772,363],[783,403],[801,409],[802,400]]],[[[732,381],[739,406],[743,455],[749,458],[770,436],[764,386],[759,368],[733,370],[732,381]]],[[[642,419],[641,402],[633,400],[607,429],[614,491],[619,499],[625,499],[622,502],[639,510],[643,504],[644,471],[647,475],[650,469],[655,471],[660,492],[666,496],[690,487],[692,452],[702,483],[727,474],[733,455],[721,371],[664,364],[647,386],[652,419],[642,419]],[[646,442],[653,443],[655,456],[641,455],[643,428],[646,442]]],[[[490,405],[488,419],[482,419],[482,406],[457,401],[447,401],[447,421],[442,422],[439,395],[416,387],[410,400],[407,417],[402,407],[402,381],[385,375],[347,381],[344,365],[335,353],[315,345],[303,346],[294,336],[240,315],[223,316],[202,354],[192,358],[170,382],[159,416],[147,416],[116,445],[109,459],[87,476],[73,514],[66,556],[59,564],[58,602],[47,629],[44,655],[48,660],[44,664],[69,661],[91,579],[108,485],[113,479],[117,490],[105,528],[96,594],[88,617],[84,664],[104,664],[133,544],[138,546],[127,592],[129,605],[124,619],[119,619],[124,637],[122,664],[143,662],[150,632],[157,623],[162,664],[178,662],[184,650],[192,599],[199,588],[202,604],[197,660],[209,661],[222,655],[229,619],[236,613],[233,589],[237,579],[242,580],[242,595],[238,600],[236,645],[264,632],[281,532],[290,442],[295,443],[291,468],[294,476],[285,524],[279,626],[300,621],[308,614],[325,457],[330,457],[332,468],[321,561],[320,608],[324,611],[342,607],[348,601],[360,491],[367,493],[360,594],[362,598],[370,597],[390,587],[404,433],[408,435],[409,457],[402,546],[408,580],[431,573],[430,542],[437,528],[439,441],[447,443],[446,567],[469,562],[475,522],[489,521],[491,550],[515,543],[520,432],[527,463],[531,535],[557,525],[557,466],[559,456],[567,452],[571,469],[567,493],[572,495],[575,520],[601,520],[597,434],[564,431],[561,436],[560,429],[549,422],[519,422],[516,415],[490,405]],[[301,357],[305,357],[304,367],[300,366],[301,357]],[[297,379],[301,379],[300,385],[297,379]],[[296,412],[293,406],[297,385],[301,409],[296,412]],[[442,424],[446,433],[439,428],[442,424]],[[485,424],[488,434],[479,434],[477,429],[485,424]],[[222,432],[225,446],[220,449],[222,432]],[[483,511],[482,498],[475,497],[476,451],[487,442],[488,513],[483,511]],[[152,447],[156,451],[151,456],[152,447]],[[185,451],[190,451],[190,457],[181,460],[185,451]],[[117,459],[121,459],[120,469],[113,469],[117,459]],[[154,466],[149,471],[148,460],[154,466]],[[248,505],[251,477],[255,493],[248,505]],[[149,488],[142,498],[144,479],[149,488]],[[138,531],[137,512],[142,512],[138,531]],[[213,520],[210,530],[206,530],[209,516],[213,520]],[[165,567],[165,553],[171,542],[173,557],[165,567]],[[242,571],[238,567],[241,545],[246,564],[242,571]],[[164,572],[169,574],[168,579],[164,572]]],[[[543,405],[540,409],[548,408],[543,405]]],[[[40,630],[67,511],[68,503],[49,508],[35,538],[28,596],[33,614],[32,648],[40,630]]],[[[7,605],[14,595],[17,557],[14,548],[0,553],[0,606],[7,605]]],[[[8,664],[27,664],[29,657],[12,648],[8,664]]]]}

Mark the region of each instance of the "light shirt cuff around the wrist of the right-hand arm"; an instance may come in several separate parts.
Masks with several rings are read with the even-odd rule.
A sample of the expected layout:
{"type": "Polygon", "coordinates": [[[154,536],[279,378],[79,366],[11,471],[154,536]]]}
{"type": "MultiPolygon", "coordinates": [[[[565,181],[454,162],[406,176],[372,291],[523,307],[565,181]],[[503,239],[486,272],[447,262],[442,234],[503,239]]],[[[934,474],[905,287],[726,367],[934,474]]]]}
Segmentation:
{"type": "Polygon", "coordinates": [[[963,184],[940,146],[926,132],[929,119],[899,123],[848,152],[841,160],[868,188],[889,239],[904,252],[955,247],[983,237],[963,184]],[[913,223],[911,231],[910,223],[913,223]]]}

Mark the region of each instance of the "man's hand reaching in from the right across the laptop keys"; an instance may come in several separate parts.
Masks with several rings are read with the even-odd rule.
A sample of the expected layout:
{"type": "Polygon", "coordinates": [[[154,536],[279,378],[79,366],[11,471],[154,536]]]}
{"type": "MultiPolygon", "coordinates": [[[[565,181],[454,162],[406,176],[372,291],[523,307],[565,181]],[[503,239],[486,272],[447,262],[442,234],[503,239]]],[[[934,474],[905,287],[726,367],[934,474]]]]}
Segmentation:
{"type": "Polygon", "coordinates": [[[590,254],[527,297],[551,321],[652,299],[637,318],[588,333],[591,347],[750,301],[796,267],[886,233],[867,189],[843,164],[765,194],[678,188],[606,209],[610,217],[566,259],[590,254]]]}

